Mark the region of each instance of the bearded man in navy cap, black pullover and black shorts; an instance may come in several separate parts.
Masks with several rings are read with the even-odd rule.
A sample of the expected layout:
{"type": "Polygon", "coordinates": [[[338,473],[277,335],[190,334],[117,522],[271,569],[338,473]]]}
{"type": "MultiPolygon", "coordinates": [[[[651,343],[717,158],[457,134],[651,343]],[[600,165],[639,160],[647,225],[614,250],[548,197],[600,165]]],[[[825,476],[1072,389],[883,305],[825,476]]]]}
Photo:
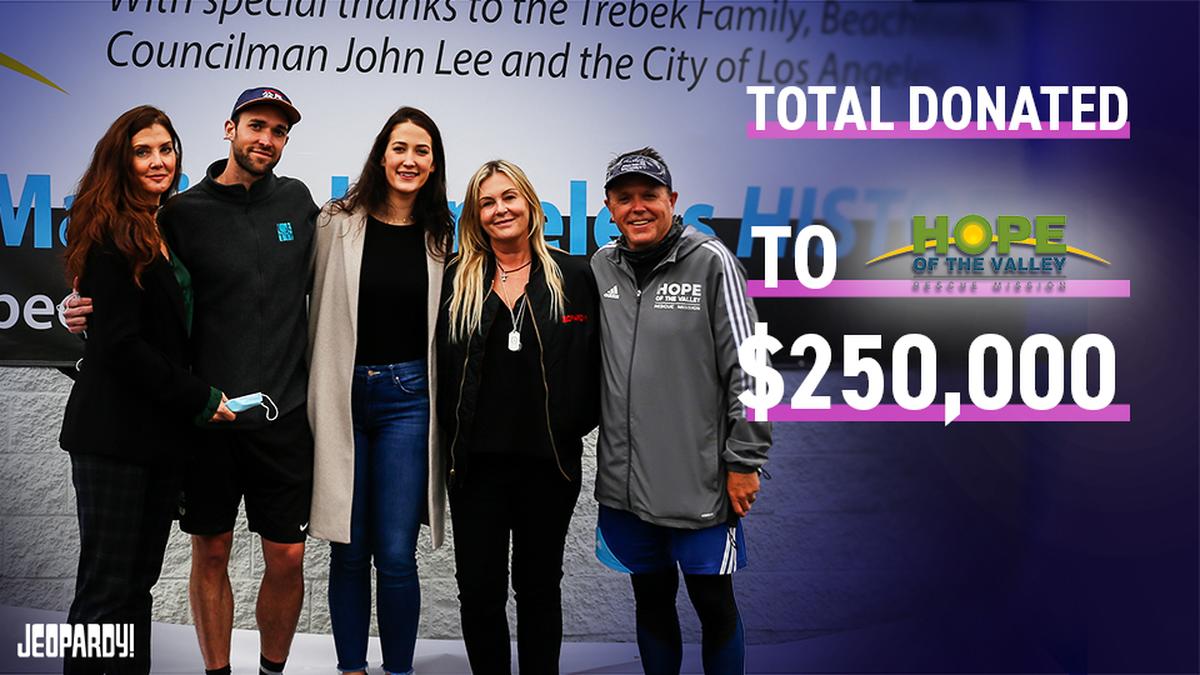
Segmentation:
{"type": "MultiPolygon", "coordinates": [[[[230,396],[263,394],[260,407],[200,432],[184,477],[188,597],[205,671],[217,675],[229,674],[228,567],[242,497],[265,562],[257,604],[260,673],[283,670],[304,601],[313,458],[304,356],[317,207],[304,183],[274,172],[299,121],[281,90],[247,89],[224,123],[228,159],[158,214],[167,244],[191,273],[194,371],[230,396]]],[[[67,311],[76,331],[91,311],[89,299],[79,304],[67,311]]]]}

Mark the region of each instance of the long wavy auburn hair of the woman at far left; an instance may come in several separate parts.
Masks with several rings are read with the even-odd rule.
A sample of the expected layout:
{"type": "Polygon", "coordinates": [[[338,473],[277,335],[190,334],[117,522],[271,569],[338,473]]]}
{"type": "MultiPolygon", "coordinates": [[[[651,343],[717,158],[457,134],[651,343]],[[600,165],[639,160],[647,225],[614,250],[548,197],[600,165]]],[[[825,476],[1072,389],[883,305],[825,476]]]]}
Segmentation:
{"type": "Polygon", "coordinates": [[[170,118],[158,108],[138,106],[108,127],[96,143],[88,171],[79,179],[67,225],[67,280],[83,276],[88,252],[110,239],[130,263],[133,281],[142,286],[142,271],[162,247],[155,211],[179,190],[184,148],[170,118]],[[170,135],[175,150],[175,175],[158,199],[149,201],[133,175],[133,136],[154,125],[170,135]]]}

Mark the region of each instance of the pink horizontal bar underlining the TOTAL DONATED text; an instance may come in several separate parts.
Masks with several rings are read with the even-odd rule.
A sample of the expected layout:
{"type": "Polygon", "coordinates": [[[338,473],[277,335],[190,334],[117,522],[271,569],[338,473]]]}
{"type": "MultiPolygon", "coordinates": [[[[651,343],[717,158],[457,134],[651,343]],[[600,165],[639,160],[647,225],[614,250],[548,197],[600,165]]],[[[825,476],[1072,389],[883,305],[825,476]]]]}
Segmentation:
{"type": "Polygon", "coordinates": [[[1085,131],[1070,127],[1070,121],[1058,123],[1058,129],[1049,129],[1049,123],[1043,121],[1040,130],[1022,129],[1009,131],[1007,129],[992,129],[988,127],[985,130],[979,130],[974,123],[961,131],[954,131],[946,126],[946,123],[935,123],[931,129],[928,130],[912,130],[908,129],[908,123],[898,121],[893,123],[895,129],[893,130],[880,130],[860,131],[853,126],[847,126],[840,131],[833,129],[833,121],[829,123],[828,129],[820,130],[815,121],[809,120],[804,123],[804,126],[797,130],[788,131],[784,129],[778,121],[769,121],[766,129],[755,129],[754,121],[746,123],[746,138],[834,138],[834,139],[860,139],[860,138],[904,138],[904,139],[952,139],[952,138],[973,138],[973,139],[1054,139],[1054,141],[1123,141],[1129,138],[1129,123],[1126,123],[1121,129],[1114,130],[1094,130],[1085,131]]]}

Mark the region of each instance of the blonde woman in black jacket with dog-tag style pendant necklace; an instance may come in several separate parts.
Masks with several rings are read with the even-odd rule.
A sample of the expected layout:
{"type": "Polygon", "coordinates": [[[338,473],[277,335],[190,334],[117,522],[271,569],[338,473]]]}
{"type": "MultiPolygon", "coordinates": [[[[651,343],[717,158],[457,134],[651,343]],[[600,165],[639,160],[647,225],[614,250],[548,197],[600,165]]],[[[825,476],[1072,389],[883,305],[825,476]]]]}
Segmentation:
{"type": "Polygon", "coordinates": [[[438,317],[438,410],[463,640],[476,674],[510,673],[509,537],[522,675],[557,674],[563,546],[582,437],[599,416],[595,280],[551,249],[533,185],[485,163],[467,185],[438,317]]]}

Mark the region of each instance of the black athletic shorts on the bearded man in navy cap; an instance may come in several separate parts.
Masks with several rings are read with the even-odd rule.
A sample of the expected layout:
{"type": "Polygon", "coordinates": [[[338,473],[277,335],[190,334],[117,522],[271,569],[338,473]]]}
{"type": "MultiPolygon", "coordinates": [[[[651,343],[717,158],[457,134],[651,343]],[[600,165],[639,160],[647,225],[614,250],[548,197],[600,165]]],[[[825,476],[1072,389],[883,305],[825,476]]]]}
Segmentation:
{"type": "Polygon", "coordinates": [[[188,534],[232,532],[242,496],[251,532],[280,544],[305,540],[312,431],[304,406],[262,429],[200,434],[184,476],[179,526],[188,534]]]}

